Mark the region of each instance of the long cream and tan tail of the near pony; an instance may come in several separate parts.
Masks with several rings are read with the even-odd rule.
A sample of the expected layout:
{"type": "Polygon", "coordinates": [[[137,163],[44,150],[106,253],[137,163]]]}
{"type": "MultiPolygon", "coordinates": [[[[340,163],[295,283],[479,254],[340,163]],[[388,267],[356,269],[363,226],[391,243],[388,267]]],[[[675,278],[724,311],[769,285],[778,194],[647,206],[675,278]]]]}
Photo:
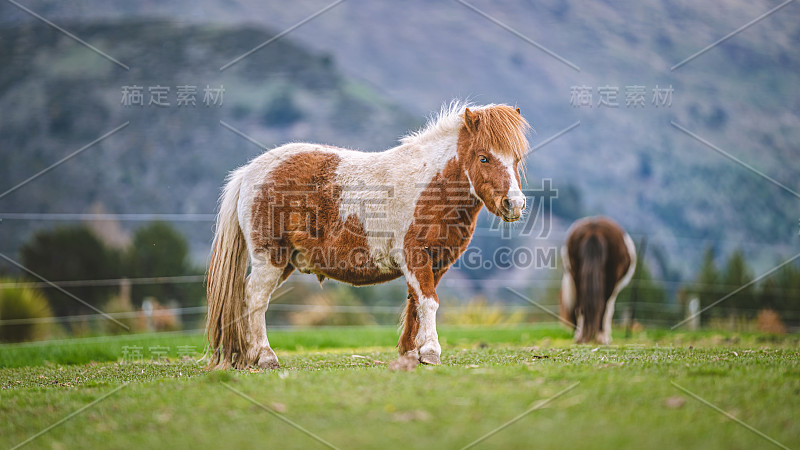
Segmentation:
{"type": "Polygon", "coordinates": [[[220,196],[208,266],[206,335],[212,352],[208,367],[214,369],[240,365],[247,351],[247,242],[237,211],[243,175],[243,169],[232,172],[220,196]]]}

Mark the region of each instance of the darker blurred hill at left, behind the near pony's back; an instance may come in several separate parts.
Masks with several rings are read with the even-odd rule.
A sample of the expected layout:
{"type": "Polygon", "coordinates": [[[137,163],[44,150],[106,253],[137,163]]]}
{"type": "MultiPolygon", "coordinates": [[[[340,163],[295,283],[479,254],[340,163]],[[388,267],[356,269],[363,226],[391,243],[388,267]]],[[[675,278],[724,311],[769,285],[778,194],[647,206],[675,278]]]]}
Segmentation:
{"type": "MultiPolygon", "coordinates": [[[[266,30],[67,27],[130,70],[38,23],[0,29],[0,191],[122,128],[1,198],[3,212],[213,213],[226,173],[263,151],[232,129],[266,148],[304,140],[369,150],[393,146],[422,122],[290,40],[219,71],[269,39],[266,30]],[[194,105],[188,93],[178,104],[178,91],[192,90],[182,86],[194,87],[194,105]],[[136,90],[142,104],[126,104],[136,90]]],[[[2,222],[1,251],[13,254],[33,229],[52,225],[2,222]]],[[[204,255],[212,224],[182,228],[204,255]]]]}

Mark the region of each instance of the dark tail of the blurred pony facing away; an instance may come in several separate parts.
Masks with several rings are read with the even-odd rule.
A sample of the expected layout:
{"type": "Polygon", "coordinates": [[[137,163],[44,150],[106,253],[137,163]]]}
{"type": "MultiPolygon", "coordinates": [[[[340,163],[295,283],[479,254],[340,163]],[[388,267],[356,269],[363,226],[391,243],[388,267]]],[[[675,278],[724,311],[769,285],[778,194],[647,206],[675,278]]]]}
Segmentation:
{"type": "Polygon", "coordinates": [[[580,248],[581,269],[578,311],[583,315],[581,342],[594,340],[600,330],[606,308],[605,264],[606,243],[596,235],[589,236],[580,248]]]}

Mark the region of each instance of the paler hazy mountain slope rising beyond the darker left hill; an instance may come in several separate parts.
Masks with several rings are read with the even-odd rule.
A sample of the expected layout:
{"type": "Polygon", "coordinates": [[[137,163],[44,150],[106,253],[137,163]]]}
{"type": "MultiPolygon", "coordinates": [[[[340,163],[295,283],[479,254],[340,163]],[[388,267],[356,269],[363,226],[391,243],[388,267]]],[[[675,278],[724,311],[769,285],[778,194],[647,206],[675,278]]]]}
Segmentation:
{"type": "MultiPolygon", "coordinates": [[[[797,248],[800,199],[672,122],[800,191],[796,163],[800,160],[800,4],[785,6],[670,70],[780,3],[469,3],[523,37],[457,1],[348,0],[277,42],[298,42],[331,55],[348,79],[360,80],[380,92],[381,99],[414,114],[428,114],[453,97],[515,103],[537,130],[534,145],[580,121],[529,158],[529,181],[536,186],[540,178],[551,178],[560,195],[569,191],[571,204],[582,205],[572,208],[573,214],[609,214],[629,230],[649,235],[650,248],[668,255],[660,258],[671,266],[664,271],[690,274],[707,245],[716,245],[722,253],[745,246],[757,269],[768,268],[797,248]],[[624,106],[625,88],[633,85],[645,87],[643,107],[624,106]],[[656,85],[673,88],[669,107],[652,104],[656,85]],[[571,104],[576,86],[593,89],[592,107],[571,104]],[[619,89],[619,107],[598,107],[598,89],[605,86],[619,89]]],[[[215,23],[221,33],[216,36],[222,39],[225,27],[229,32],[252,26],[286,30],[331,3],[112,0],[67,5],[44,0],[26,4],[53,20],[163,17],[215,23]]],[[[35,21],[11,4],[0,5],[0,11],[5,23],[35,21]]],[[[225,64],[269,35],[237,39],[217,63],[225,64]]],[[[129,35],[124,45],[141,52],[139,40],[138,35],[129,35]]],[[[269,53],[264,52],[271,46],[245,61],[252,59],[248,64],[254,66],[267,61],[269,53]]],[[[161,51],[160,45],[150,48],[161,51]]],[[[250,131],[278,138],[308,139],[312,132],[323,138],[337,136],[325,134],[337,132],[330,128],[302,127],[295,127],[293,135],[280,134],[262,130],[255,119],[251,122],[250,131]]],[[[396,132],[384,129],[377,134],[396,132]]],[[[348,136],[358,141],[356,137],[371,139],[375,134],[362,130],[348,136]]],[[[567,225],[566,220],[559,222],[562,229],[567,225]]]]}

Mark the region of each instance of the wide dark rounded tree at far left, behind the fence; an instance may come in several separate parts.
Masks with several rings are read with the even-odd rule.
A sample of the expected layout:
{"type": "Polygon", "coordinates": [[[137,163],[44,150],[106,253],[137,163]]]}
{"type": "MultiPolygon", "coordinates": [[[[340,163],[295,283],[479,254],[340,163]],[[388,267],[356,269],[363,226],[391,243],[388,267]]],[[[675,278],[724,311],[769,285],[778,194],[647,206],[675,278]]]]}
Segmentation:
{"type": "MultiPolygon", "coordinates": [[[[107,247],[83,226],[40,231],[22,245],[20,254],[23,266],[49,281],[107,279],[120,275],[120,253],[107,247]]],[[[41,281],[30,274],[27,277],[41,281]]],[[[64,289],[98,308],[116,291],[115,287],[108,286],[64,289]]],[[[48,288],[45,295],[58,316],[95,312],[56,289],[48,288]]]]}

